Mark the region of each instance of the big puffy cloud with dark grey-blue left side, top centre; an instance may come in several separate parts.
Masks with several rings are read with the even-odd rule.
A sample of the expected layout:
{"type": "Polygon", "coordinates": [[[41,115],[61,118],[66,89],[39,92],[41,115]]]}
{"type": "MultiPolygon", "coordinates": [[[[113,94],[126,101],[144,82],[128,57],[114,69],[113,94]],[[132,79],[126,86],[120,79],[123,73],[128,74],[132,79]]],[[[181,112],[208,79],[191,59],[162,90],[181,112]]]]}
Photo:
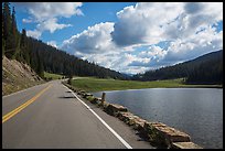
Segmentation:
{"type": "Polygon", "coordinates": [[[182,12],[183,3],[148,2],[127,7],[117,13],[118,22],[111,33],[120,46],[163,41],[161,25],[173,21],[182,12]]]}

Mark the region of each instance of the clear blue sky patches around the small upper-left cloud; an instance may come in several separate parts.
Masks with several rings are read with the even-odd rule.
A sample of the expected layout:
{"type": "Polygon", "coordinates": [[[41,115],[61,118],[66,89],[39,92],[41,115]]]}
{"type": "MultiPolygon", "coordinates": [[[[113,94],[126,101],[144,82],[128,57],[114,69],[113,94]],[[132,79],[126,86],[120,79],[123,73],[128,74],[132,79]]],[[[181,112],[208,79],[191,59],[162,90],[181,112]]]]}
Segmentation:
{"type": "MultiPolygon", "coordinates": [[[[95,25],[99,22],[116,22],[116,13],[122,10],[125,7],[133,6],[136,2],[85,2],[79,8],[84,15],[72,15],[71,18],[61,18],[58,22],[69,23],[73,26],[58,30],[57,32],[50,33],[44,32],[41,36],[43,42],[56,41],[60,45],[65,39],[69,39],[72,35],[83,32],[87,26],[95,25]],[[71,32],[73,30],[73,32],[71,32]]],[[[19,30],[33,30],[36,23],[23,23],[22,19],[26,19],[29,15],[28,10],[24,8],[17,8],[17,3],[12,3],[17,9],[17,21],[19,30]]]]}

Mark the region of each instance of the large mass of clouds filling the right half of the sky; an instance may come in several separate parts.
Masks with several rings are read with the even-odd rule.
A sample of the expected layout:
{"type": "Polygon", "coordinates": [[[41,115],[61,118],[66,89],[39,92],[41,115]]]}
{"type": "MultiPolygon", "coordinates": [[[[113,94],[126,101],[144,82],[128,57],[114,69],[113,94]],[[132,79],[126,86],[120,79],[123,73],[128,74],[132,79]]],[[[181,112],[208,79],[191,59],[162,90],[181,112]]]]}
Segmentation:
{"type": "Polygon", "coordinates": [[[223,48],[222,32],[213,24],[223,20],[218,3],[138,3],[117,13],[119,21],[111,33],[116,44],[152,45],[172,41],[169,48],[156,46],[139,53],[149,62],[133,61],[129,66],[159,67],[195,58],[223,48]],[[196,34],[196,32],[199,32],[196,34]]]}

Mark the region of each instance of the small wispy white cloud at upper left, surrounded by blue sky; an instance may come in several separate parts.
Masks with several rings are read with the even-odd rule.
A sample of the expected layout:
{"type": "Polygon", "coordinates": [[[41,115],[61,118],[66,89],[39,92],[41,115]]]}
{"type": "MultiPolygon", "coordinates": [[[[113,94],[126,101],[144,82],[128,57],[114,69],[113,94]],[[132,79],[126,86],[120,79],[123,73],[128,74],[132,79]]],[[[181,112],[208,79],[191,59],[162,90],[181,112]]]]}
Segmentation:
{"type": "Polygon", "coordinates": [[[72,24],[58,23],[58,18],[84,15],[79,7],[82,2],[15,2],[18,7],[28,10],[29,19],[23,23],[38,23],[36,29],[29,31],[33,37],[40,37],[44,31],[54,33],[56,30],[72,26],[72,24]]]}

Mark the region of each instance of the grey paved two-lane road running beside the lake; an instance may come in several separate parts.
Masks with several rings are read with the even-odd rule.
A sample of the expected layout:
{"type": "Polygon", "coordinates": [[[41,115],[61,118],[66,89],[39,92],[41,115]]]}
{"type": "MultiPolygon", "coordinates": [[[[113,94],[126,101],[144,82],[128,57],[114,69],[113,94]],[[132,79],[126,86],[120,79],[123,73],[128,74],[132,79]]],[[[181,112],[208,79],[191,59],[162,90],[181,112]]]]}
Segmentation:
{"type": "Polygon", "coordinates": [[[2,148],[152,147],[124,122],[84,105],[61,80],[53,80],[2,97],[2,148]]]}

